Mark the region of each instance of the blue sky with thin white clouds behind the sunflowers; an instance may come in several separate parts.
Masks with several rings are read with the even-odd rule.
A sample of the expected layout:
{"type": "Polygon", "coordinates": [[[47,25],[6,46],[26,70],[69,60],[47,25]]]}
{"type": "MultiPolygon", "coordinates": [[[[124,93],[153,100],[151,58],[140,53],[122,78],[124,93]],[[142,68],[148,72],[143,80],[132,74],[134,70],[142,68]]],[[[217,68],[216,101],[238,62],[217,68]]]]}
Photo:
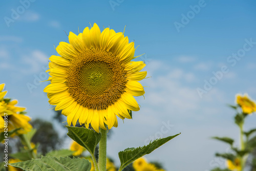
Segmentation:
{"type": "MultiPolygon", "coordinates": [[[[21,2],[4,1],[0,6],[0,82],[6,83],[8,97],[26,106],[29,116],[53,117],[42,91],[48,83],[39,81],[48,77],[48,58],[57,55],[54,45],[68,41],[64,31],[78,34],[78,27],[81,32],[90,22],[101,31],[110,25],[122,32],[126,25],[125,35],[140,45],[135,55],[145,53],[137,60],[145,60],[144,70],[152,77],[141,81],[148,87],[145,99],[136,98],[141,110],[113,129],[109,155],[118,163],[117,153],[126,147],[181,132],[146,158],[161,161],[167,170],[225,166],[214,154],[227,146],[210,137],[238,139],[233,111],[226,104],[234,103],[237,93],[256,99],[255,1],[31,0],[27,8],[21,2]],[[177,29],[175,23],[182,27],[177,29]],[[225,73],[220,73],[223,67],[225,73]],[[211,82],[207,91],[205,82],[211,82]],[[204,90],[201,97],[198,88],[204,90]],[[167,122],[172,126],[161,133],[167,122]]],[[[256,115],[250,118],[246,129],[255,126],[256,115]]]]}

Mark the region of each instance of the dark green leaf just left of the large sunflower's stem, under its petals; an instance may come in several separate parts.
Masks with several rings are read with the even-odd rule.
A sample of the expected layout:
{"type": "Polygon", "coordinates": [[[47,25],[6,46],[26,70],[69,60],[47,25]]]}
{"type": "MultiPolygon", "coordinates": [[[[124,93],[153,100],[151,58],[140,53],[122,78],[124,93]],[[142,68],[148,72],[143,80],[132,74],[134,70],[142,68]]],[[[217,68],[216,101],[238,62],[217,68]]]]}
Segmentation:
{"type": "Polygon", "coordinates": [[[69,130],[68,136],[78,144],[88,150],[93,155],[97,144],[101,139],[101,133],[96,133],[93,130],[85,127],[66,126],[69,130]]]}

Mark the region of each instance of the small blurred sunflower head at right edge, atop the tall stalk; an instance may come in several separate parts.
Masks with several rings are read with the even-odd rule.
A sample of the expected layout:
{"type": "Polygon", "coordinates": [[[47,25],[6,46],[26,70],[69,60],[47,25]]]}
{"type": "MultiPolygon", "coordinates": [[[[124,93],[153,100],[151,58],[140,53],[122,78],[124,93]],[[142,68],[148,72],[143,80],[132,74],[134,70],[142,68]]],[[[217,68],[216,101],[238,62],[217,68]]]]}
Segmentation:
{"type": "Polygon", "coordinates": [[[251,114],[256,112],[256,104],[253,100],[251,100],[248,94],[237,94],[237,103],[241,106],[243,113],[251,114]]]}

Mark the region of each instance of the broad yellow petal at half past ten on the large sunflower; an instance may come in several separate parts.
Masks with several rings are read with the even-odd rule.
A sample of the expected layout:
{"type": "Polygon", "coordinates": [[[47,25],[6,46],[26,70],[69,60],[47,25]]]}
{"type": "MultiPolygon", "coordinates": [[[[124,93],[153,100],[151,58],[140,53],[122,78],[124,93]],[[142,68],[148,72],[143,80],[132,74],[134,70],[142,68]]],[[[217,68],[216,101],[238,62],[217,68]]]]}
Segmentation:
{"type": "Polygon", "coordinates": [[[72,45],[63,41],[59,42],[59,46],[57,46],[56,51],[60,56],[66,59],[73,59],[77,55],[77,52],[74,50],[72,45]]]}

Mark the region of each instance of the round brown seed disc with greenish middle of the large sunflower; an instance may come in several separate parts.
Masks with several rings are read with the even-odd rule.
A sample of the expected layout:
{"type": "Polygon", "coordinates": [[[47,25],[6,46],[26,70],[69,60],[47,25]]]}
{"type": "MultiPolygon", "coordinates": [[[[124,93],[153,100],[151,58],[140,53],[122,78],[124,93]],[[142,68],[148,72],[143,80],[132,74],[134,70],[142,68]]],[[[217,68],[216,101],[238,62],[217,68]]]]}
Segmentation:
{"type": "Polygon", "coordinates": [[[71,61],[66,83],[77,103],[88,109],[103,110],[121,97],[126,72],[112,52],[84,50],[71,61]]]}

